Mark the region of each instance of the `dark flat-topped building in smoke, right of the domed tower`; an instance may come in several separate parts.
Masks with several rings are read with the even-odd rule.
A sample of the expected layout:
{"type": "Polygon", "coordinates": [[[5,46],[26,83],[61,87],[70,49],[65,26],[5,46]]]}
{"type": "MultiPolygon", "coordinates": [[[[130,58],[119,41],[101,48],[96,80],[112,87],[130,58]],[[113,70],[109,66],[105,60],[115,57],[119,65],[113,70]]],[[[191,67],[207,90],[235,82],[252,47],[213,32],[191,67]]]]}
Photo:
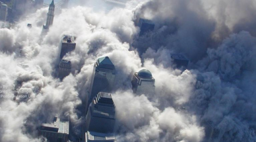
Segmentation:
{"type": "Polygon", "coordinates": [[[189,60],[181,54],[171,54],[172,64],[174,68],[186,69],[188,67],[189,60]]]}

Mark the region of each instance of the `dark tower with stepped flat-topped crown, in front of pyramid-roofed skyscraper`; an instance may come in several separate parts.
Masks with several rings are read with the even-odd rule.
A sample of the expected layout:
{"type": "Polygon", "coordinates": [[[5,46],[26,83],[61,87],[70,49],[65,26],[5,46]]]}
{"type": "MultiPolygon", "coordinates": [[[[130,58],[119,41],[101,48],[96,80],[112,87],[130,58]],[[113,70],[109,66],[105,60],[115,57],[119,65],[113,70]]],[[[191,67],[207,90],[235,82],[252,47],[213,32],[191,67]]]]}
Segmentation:
{"type": "Polygon", "coordinates": [[[115,104],[110,93],[99,92],[92,100],[86,115],[86,131],[113,133],[115,104]]]}

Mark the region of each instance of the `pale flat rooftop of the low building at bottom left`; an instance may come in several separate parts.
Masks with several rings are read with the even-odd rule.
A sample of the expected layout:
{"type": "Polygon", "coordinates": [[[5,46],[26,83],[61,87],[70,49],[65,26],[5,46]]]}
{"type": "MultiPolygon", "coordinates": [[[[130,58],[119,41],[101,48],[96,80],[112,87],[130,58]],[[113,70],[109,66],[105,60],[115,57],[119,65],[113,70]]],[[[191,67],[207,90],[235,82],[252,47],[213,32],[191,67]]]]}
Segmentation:
{"type": "Polygon", "coordinates": [[[40,130],[69,134],[69,121],[54,117],[53,123],[43,123],[40,130]]]}

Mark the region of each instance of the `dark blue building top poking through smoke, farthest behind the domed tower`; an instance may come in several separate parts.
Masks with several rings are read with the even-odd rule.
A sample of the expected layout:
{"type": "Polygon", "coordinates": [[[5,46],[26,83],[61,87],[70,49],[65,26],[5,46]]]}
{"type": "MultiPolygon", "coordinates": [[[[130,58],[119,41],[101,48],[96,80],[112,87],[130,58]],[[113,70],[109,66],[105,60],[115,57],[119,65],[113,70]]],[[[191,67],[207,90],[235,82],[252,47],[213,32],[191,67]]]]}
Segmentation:
{"type": "Polygon", "coordinates": [[[155,28],[155,24],[152,23],[152,21],[147,20],[147,19],[139,19],[138,26],[140,28],[139,36],[143,36],[145,33],[148,33],[155,28]]]}

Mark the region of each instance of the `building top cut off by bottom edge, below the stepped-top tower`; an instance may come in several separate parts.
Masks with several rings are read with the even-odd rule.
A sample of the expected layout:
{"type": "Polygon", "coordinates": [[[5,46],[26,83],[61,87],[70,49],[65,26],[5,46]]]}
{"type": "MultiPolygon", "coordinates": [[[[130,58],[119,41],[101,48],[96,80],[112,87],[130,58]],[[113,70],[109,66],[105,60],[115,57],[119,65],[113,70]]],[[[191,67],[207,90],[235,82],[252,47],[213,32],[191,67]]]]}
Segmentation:
{"type": "Polygon", "coordinates": [[[116,142],[113,134],[96,133],[87,131],[83,142],[116,142]]]}

